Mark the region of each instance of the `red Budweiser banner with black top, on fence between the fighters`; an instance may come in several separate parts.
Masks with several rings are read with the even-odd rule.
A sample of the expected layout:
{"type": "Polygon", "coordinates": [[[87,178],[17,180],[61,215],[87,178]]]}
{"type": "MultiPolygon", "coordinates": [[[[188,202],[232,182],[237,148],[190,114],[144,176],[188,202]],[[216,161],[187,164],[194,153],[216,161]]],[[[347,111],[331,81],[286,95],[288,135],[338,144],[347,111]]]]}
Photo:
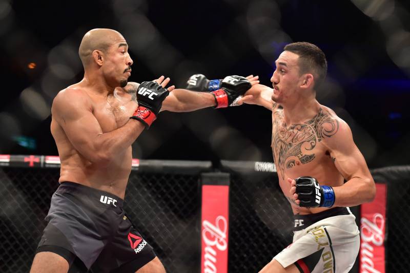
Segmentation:
{"type": "Polygon", "coordinates": [[[202,174],[201,273],[228,272],[229,174],[202,174]]]}

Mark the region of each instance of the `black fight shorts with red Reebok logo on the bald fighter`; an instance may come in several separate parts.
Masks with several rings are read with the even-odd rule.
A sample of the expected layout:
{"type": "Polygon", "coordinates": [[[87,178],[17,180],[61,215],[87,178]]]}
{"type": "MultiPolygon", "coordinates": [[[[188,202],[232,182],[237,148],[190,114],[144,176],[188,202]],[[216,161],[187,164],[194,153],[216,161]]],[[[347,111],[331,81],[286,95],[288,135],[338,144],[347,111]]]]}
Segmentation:
{"type": "Polygon", "coordinates": [[[70,265],[78,258],[92,272],[135,272],[155,253],[125,215],[123,203],[95,188],[61,183],[36,253],[54,252],[70,265]]]}

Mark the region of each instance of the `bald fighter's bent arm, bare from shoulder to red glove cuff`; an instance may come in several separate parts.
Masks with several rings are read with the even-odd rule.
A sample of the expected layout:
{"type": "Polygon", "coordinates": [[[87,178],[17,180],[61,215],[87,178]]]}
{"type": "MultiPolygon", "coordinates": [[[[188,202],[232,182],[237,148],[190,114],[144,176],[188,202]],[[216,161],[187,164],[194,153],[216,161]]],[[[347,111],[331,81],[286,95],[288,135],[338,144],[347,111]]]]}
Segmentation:
{"type": "Polygon", "coordinates": [[[65,89],[54,98],[51,114],[74,148],[95,164],[108,165],[113,155],[124,153],[145,129],[138,120],[103,133],[92,113],[91,99],[81,90],[65,89]]]}

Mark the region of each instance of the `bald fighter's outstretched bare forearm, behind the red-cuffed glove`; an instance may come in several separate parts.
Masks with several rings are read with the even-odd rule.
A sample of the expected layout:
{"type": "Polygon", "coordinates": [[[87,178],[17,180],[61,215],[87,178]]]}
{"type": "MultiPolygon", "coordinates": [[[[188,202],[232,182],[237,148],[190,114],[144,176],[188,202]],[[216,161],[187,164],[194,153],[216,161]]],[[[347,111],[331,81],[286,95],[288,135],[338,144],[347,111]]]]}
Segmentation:
{"type": "Polygon", "coordinates": [[[172,97],[163,102],[163,110],[171,112],[191,112],[216,105],[215,96],[208,92],[194,92],[186,89],[175,89],[172,97]]]}

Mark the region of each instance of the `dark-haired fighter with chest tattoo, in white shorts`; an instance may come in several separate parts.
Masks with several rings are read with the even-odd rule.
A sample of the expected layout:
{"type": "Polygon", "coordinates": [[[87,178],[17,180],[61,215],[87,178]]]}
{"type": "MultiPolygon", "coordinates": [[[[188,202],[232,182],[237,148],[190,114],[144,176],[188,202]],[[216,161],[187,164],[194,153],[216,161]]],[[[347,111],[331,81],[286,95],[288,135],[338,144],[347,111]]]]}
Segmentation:
{"type": "Polygon", "coordinates": [[[260,272],[348,272],[360,244],[348,207],[374,199],[373,178],[349,126],[315,99],[324,53],[293,43],[275,64],[273,90],[255,85],[242,100],[272,110],[272,151],[294,237],[260,272]]]}

